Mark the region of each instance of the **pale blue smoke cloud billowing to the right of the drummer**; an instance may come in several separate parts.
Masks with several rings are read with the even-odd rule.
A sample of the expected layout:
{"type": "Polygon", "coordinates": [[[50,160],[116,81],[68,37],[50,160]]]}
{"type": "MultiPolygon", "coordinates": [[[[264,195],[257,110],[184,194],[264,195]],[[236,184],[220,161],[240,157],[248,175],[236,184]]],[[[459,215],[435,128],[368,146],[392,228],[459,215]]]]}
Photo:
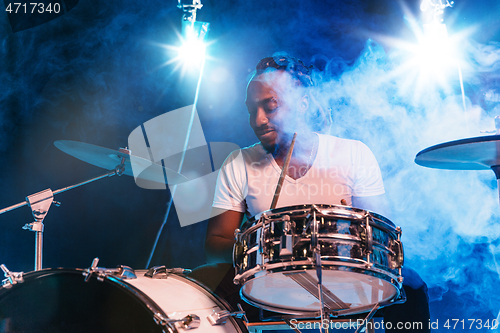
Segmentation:
{"type": "MultiPolygon", "coordinates": [[[[488,91],[495,101],[496,87],[485,82],[496,76],[498,48],[471,43],[468,53],[476,64],[464,76],[470,91],[488,91]]],[[[467,96],[464,110],[460,95],[435,85],[415,91],[405,84],[408,73],[394,74],[404,61],[368,41],[359,59],[338,78],[318,75],[316,96],[332,110],[333,134],[361,140],[377,156],[391,218],[403,229],[406,264],[430,287],[433,319],[491,322],[500,310],[499,291],[492,288],[500,276],[494,173],[427,169],[413,160],[431,145],[494,129],[491,111],[496,103],[484,110],[467,96]],[[458,299],[463,303],[455,303],[458,299]]]]}

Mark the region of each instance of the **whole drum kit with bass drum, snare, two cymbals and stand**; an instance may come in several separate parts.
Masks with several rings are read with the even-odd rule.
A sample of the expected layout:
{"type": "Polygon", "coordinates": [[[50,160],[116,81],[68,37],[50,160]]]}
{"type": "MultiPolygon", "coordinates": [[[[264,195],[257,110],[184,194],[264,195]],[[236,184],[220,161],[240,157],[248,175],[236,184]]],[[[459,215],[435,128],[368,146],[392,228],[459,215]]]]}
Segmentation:
{"type": "MultiPolygon", "coordinates": [[[[188,270],[101,268],[97,258],[86,269],[42,269],[43,219],[49,207],[57,204],[54,195],[114,175],[133,176],[134,163],[145,170],[140,174],[145,180],[157,179],[158,171],[167,174],[171,183],[186,180],[157,164],[146,168],[151,163],[126,148],[114,151],[73,141],[55,145],[111,171],[56,191],[38,192],[0,210],[3,214],[28,205],[35,221],[24,228],[36,232],[34,271],[11,272],[0,265],[5,274],[0,286],[2,332],[243,333],[254,329],[241,307],[234,311],[208,287],[188,277],[188,270]]],[[[500,183],[500,135],[439,144],[419,152],[415,162],[440,169],[492,169],[500,183]]],[[[374,212],[346,205],[271,207],[237,229],[235,239],[234,282],[241,286],[241,298],[282,314],[285,322],[366,314],[366,323],[378,309],[406,299],[401,228],[374,212]]],[[[361,325],[357,332],[364,329],[361,325]]]]}

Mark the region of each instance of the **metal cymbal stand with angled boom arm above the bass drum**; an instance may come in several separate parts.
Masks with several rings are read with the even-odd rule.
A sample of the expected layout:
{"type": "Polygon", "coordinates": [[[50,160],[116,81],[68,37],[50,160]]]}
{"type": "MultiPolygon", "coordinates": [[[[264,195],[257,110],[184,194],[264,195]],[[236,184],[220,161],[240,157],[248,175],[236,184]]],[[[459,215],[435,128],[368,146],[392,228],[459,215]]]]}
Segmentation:
{"type": "MultiPolygon", "coordinates": [[[[121,153],[125,153],[130,155],[130,150],[127,148],[120,148],[119,150],[121,153]]],[[[120,164],[115,167],[114,170],[111,170],[101,176],[94,177],[91,179],[88,179],[86,181],[83,181],[81,183],[63,187],[61,189],[58,189],[56,191],[52,191],[50,188],[43,190],[41,192],[29,195],[26,197],[26,201],[20,202],[18,204],[15,204],[13,206],[4,208],[0,210],[0,215],[3,213],[6,213],[8,211],[14,210],[19,207],[23,206],[30,206],[31,208],[31,213],[33,214],[33,217],[35,218],[34,222],[31,223],[26,223],[23,226],[24,230],[29,230],[33,231],[36,233],[35,235],[35,271],[41,270],[42,269],[42,257],[43,257],[43,220],[45,219],[45,216],[47,216],[47,213],[49,211],[49,208],[52,204],[55,204],[56,206],[60,206],[61,203],[58,201],[54,201],[54,195],[59,194],[62,192],[69,191],[71,189],[74,189],[76,187],[91,183],[93,181],[106,178],[106,177],[111,177],[114,175],[121,176],[123,172],[125,171],[125,157],[122,157],[120,164]]]]}

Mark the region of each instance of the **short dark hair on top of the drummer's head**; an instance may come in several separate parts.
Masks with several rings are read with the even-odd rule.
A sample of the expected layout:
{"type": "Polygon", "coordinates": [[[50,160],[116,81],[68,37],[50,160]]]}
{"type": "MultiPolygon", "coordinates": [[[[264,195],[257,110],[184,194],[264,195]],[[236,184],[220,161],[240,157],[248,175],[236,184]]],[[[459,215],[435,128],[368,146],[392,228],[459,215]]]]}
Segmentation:
{"type": "Polygon", "coordinates": [[[306,67],[301,60],[290,55],[275,55],[263,58],[255,66],[255,69],[257,75],[268,72],[270,69],[283,70],[297,79],[304,87],[313,85],[311,79],[312,67],[306,67]]]}

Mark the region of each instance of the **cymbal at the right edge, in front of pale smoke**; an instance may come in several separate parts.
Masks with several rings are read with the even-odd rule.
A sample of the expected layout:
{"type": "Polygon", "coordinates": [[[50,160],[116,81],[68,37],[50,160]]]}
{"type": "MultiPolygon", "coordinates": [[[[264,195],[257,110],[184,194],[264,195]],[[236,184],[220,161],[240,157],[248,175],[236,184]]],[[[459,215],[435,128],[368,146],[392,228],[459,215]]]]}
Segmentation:
{"type": "Polygon", "coordinates": [[[500,135],[441,143],[419,152],[415,163],[447,170],[493,170],[500,165],[500,135]]]}

